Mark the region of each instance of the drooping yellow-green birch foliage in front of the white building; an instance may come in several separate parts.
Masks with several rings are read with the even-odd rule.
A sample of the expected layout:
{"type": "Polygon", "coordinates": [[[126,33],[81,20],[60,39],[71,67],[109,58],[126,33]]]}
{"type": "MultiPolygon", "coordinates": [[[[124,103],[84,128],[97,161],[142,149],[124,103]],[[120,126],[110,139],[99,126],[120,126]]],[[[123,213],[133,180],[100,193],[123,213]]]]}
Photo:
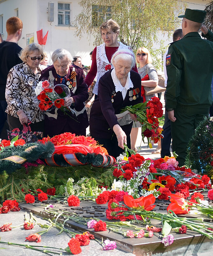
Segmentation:
{"type": "Polygon", "coordinates": [[[105,19],[112,18],[120,25],[118,40],[132,49],[141,46],[151,49],[153,41],[159,40],[159,30],[164,34],[170,33],[175,22],[180,22],[177,16],[182,12],[181,7],[185,6],[178,0],[81,0],[79,5],[82,6],[82,12],[75,17],[76,36],[81,38],[87,33],[90,40],[93,35],[94,45],[99,45],[102,42],[99,26],[105,19]],[[94,5],[99,6],[96,13],[94,5]],[[110,6],[110,13],[109,8],[103,6],[110,6]]]}

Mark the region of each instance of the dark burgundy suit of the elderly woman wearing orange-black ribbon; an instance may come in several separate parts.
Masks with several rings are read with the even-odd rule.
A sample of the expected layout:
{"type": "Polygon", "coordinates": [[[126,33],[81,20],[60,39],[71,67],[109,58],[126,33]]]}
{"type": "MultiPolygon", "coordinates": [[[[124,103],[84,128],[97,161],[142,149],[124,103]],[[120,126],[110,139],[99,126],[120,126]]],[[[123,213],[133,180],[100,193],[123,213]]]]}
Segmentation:
{"type": "MultiPolygon", "coordinates": [[[[89,94],[88,94],[88,88],[87,85],[85,84],[84,76],[83,76],[83,69],[80,68],[79,66],[75,65],[70,65],[68,69],[68,73],[65,76],[65,85],[67,84],[67,78],[70,79],[70,74],[73,70],[73,67],[75,67],[75,72],[77,73],[76,75],[76,91],[73,93],[73,91],[70,89],[71,97],[75,100],[75,105],[70,106],[72,109],[75,108],[76,111],[80,112],[84,108],[84,102],[88,99],[89,94]]],[[[41,72],[41,76],[39,80],[41,81],[42,78],[45,78],[48,80],[49,78],[49,71],[52,71],[53,77],[56,78],[54,79],[54,85],[60,84],[60,78],[58,78],[56,70],[54,66],[49,66],[46,69],[44,69],[41,72]]],[[[55,109],[50,111],[49,113],[54,114],[55,109]]],[[[74,132],[76,130],[83,130],[86,129],[89,126],[89,121],[88,121],[88,116],[86,109],[83,111],[83,113],[79,115],[74,115],[72,112],[67,112],[71,117],[68,115],[64,114],[60,109],[58,109],[58,116],[57,119],[53,117],[48,117],[45,115],[45,132],[49,132],[49,134],[60,134],[64,132],[63,128],[67,125],[70,127],[69,131],[66,132],[74,132]]]]}

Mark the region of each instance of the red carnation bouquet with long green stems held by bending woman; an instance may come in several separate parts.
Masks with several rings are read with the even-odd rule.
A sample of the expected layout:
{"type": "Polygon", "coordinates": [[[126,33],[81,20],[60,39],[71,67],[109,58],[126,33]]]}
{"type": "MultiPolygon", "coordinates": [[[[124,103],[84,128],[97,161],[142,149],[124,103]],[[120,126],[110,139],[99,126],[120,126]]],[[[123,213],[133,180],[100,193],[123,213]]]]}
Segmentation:
{"type": "Polygon", "coordinates": [[[152,97],[150,101],[139,103],[133,106],[126,106],[122,112],[129,111],[137,116],[137,120],[142,124],[141,135],[144,142],[144,137],[147,137],[149,147],[152,148],[152,143],[157,143],[161,135],[162,128],[159,127],[158,118],[163,115],[162,103],[158,97],[152,97]]]}

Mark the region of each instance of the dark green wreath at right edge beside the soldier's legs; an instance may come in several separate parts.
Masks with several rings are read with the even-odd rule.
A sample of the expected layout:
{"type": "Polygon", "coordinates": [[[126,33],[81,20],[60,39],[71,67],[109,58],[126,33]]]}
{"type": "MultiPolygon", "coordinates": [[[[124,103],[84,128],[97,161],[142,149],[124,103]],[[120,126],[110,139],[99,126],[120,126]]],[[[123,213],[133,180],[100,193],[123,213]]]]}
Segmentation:
{"type": "Polygon", "coordinates": [[[185,164],[207,174],[213,167],[213,120],[205,118],[189,141],[185,164]]]}

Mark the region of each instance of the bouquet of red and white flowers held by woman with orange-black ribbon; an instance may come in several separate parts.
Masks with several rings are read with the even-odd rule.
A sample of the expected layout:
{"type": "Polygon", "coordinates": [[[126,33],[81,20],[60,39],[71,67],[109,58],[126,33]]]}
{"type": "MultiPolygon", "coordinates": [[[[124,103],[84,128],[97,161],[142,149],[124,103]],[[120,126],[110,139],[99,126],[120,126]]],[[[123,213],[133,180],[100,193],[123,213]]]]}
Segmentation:
{"type": "Polygon", "coordinates": [[[35,88],[35,94],[41,111],[51,111],[54,107],[60,108],[63,112],[69,110],[63,107],[65,98],[71,95],[69,88],[64,84],[54,86],[47,80],[40,81],[35,88]]]}

